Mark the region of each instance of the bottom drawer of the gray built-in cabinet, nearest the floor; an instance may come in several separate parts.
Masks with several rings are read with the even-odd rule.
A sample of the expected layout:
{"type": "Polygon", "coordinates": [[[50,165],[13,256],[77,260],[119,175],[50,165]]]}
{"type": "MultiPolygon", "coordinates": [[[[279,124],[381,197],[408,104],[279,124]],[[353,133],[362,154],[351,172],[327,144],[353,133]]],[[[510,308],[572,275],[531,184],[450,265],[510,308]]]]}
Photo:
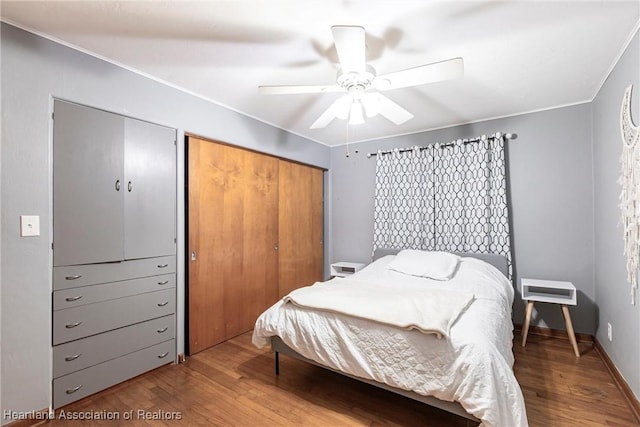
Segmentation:
{"type": "Polygon", "coordinates": [[[175,340],[129,353],[53,380],[53,407],[60,408],[175,360],[175,340]]]}

